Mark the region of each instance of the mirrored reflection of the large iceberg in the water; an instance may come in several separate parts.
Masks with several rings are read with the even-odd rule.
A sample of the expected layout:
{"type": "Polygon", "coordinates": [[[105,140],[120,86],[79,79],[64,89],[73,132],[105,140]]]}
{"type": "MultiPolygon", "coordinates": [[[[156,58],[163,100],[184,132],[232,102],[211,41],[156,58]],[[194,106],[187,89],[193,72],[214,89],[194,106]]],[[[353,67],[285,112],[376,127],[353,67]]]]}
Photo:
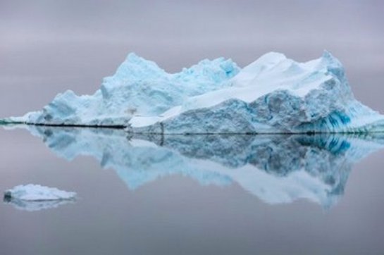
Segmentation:
{"type": "Polygon", "coordinates": [[[330,208],[352,166],[384,147],[384,135],[131,135],[123,130],[23,126],[60,157],[116,170],[130,189],[166,175],[230,185],[268,204],[308,199],[330,208]]]}

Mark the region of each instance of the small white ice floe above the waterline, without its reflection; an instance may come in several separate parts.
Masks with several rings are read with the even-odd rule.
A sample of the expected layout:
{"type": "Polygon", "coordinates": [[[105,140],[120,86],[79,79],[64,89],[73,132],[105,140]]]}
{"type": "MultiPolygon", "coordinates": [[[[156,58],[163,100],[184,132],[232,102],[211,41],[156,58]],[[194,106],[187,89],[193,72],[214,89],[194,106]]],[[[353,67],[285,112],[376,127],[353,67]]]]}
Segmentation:
{"type": "Polygon", "coordinates": [[[16,199],[20,201],[54,201],[70,200],[76,197],[75,192],[66,192],[54,187],[45,187],[42,185],[18,185],[13,189],[4,192],[7,199],[16,199]]]}

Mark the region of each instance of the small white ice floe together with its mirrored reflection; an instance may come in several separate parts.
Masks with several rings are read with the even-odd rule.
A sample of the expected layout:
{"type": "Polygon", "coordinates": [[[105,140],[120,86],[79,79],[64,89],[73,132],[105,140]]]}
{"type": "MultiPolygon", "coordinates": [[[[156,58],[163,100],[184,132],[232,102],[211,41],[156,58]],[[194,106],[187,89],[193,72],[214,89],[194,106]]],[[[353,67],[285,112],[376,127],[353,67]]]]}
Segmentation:
{"type": "Polygon", "coordinates": [[[4,192],[4,201],[13,204],[16,209],[39,211],[56,208],[61,204],[75,201],[75,192],[66,192],[54,187],[41,185],[18,185],[4,192]]]}

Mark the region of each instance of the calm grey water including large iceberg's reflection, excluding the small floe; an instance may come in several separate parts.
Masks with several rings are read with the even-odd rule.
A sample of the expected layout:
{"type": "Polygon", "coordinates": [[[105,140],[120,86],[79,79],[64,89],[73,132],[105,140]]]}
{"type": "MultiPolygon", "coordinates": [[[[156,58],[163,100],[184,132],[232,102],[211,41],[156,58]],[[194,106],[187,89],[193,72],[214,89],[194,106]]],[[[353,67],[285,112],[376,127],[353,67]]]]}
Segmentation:
{"type": "Polygon", "coordinates": [[[1,254],[384,250],[384,135],[132,137],[20,127],[0,128],[0,139],[1,190],[32,182],[79,195],[39,211],[1,203],[1,254]]]}

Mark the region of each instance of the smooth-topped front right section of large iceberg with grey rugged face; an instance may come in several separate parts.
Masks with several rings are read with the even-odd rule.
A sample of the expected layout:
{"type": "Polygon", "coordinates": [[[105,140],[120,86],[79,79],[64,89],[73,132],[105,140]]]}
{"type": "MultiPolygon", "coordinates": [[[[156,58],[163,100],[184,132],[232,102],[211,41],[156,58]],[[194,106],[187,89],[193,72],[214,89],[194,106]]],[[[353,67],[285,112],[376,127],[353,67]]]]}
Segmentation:
{"type": "Polygon", "coordinates": [[[189,97],[161,117],[134,116],[131,132],[295,133],[383,130],[384,117],[354,99],[328,51],[297,63],[270,53],[243,68],[231,86],[189,97]]]}

